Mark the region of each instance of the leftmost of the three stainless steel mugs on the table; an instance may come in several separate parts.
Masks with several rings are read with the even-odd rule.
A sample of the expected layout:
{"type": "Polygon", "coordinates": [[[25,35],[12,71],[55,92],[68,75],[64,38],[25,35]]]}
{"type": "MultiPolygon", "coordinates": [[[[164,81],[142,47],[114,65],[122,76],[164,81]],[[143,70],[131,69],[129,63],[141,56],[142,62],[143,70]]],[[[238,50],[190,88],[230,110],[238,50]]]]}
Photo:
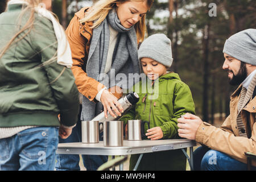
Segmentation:
{"type": "Polygon", "coordinates": [[[98,121],[81,121],[82,143],[98,143],[100,123],[98,121]]]}

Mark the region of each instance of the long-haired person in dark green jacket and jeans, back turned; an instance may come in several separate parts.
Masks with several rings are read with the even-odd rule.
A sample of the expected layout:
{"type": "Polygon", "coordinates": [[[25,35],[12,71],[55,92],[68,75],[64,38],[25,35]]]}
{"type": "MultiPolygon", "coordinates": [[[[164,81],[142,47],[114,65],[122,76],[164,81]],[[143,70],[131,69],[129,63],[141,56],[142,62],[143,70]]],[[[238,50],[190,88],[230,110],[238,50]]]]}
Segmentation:
{"type": "Polygon", "coordinates": [[[0,170],[54,170],[58,135],[77,122],[70,47],[42,6],[11,0],[0,15],[0,170]]]}

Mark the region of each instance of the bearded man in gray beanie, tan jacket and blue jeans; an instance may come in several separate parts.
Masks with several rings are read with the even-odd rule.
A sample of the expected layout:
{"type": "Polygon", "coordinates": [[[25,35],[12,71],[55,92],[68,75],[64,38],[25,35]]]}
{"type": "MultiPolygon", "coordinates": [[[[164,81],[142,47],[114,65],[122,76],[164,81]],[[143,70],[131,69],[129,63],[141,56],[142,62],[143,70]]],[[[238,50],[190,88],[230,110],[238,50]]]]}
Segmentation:
{"type": "MultiPolygon", "coordinates": [[[[245,152],[256,154],[256,29],[230,36],[223,53],[229,84],[239,85],[230,97],[230,115],[220,128],[189,113],[178,119],[179,136],[202,145],[193,155],[195,170],[246,170],[245,152]]],[[[256,170],[256,160],[251,165],[256,170]]]]}

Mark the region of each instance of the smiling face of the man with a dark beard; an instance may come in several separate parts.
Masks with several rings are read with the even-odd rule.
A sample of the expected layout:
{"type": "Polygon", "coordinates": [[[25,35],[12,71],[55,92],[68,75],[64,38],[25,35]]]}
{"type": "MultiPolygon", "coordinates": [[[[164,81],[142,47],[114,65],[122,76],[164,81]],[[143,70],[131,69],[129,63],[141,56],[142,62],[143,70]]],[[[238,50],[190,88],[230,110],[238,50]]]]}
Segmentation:
{"type": "Polygon", "coordinates": [[[228,72],[229,84],[240,85],[247,77],[246,64],[224,53],[225,61],[222,68],[228,72]]]}

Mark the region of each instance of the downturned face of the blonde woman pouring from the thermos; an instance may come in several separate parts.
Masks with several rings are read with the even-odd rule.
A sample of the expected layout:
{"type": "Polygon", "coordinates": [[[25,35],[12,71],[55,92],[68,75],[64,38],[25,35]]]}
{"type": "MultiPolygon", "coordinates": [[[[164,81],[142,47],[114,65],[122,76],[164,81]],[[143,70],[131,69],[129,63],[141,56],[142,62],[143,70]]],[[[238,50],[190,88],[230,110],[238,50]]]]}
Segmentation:
{"type": "Polygon", "coordinates": [[[147,13],[147,1],[125,1],[117,3],[117,16],[125,28],[130,28],[147,13]]]}

